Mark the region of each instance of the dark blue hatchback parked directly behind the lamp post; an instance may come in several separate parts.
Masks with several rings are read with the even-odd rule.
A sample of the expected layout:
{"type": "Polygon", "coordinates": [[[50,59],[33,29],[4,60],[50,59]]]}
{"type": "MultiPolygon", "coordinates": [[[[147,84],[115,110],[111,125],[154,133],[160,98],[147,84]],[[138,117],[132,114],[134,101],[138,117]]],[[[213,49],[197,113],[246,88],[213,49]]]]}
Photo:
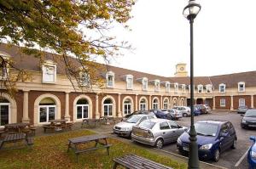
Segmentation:
{"type": "MultiPolygon", "coordinates": [[[[236,149],[236,131],[230,121],[197,121],[195,131],[201,160],[218,161],[225,149],[236,149]]],[[[177,138],[177,149],[189,153],[189,130],[177,138]]]]}

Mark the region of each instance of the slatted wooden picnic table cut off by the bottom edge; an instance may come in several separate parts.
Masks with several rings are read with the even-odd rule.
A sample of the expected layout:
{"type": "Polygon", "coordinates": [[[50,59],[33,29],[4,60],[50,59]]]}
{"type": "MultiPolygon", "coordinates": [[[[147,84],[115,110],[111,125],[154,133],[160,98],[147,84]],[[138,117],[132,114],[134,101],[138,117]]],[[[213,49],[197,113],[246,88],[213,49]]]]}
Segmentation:
{"type": "Polygon", "coordinates": [[[116,169],[118,165],[125,166],[125,168],[130,169],[172,169],[169,166],[164,166],[157,162],[149,161],[148,159],[137,155],[125,155],[115,158],[113,161],[113,169],[116,169]]]}

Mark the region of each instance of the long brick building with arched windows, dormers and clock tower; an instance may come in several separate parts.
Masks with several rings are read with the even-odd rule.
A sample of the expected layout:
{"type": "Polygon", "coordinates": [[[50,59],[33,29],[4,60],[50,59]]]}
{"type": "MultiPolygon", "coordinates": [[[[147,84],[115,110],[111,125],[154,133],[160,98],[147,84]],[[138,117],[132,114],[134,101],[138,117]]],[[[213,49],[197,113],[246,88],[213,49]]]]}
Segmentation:
{"type": "MultiPolygon", "coordinates": [[[[134,110],[167,109],[189,103],[189,76],[184,64],[177,64],[174,77],[108,66],[108,71],[98,76],[106,79],[106,87],[82,92],[77,86],[74,89],[65,76],[63,63],[55,63],[55,54],[47,54],[41,65],[39,59],[21,54],[15,46],[0,44],[0,54],[32,74],[32,81],[16,83],[18,92],[14,98],[2,90],[0,126],[18,121],[40,126],[59,118],[76,122],[103,115],[120,117],[134,110]]],[[[9,68],[12,73],[15,70],[9,68]]],[[[195,103],[209,104],[213,110],[253,107],[255,77],[256,71],[195,77],[195,103]]]]}

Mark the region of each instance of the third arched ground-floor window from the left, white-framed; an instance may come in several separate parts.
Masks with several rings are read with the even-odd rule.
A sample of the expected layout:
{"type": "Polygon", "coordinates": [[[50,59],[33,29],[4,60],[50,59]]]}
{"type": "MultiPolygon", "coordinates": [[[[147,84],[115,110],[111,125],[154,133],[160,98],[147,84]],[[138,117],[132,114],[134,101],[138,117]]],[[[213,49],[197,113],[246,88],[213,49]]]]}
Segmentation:
{"type": "Polygon", "coordinates": [[[77,106],[77,119],[88,118],[89,103],[87,99],[79,99],[76,106],[77,106]]]}

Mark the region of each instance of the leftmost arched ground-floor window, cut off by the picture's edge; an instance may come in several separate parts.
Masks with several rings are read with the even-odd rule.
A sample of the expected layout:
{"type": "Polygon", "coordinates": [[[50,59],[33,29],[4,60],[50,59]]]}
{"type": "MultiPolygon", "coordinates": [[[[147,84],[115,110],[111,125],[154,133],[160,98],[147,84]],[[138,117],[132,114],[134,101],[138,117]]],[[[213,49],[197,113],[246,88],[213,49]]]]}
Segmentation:
{"type": "Polygon", "coordinates": [[[10,122],[10,103],[8,99],[0,99],[0,126],[9,124],[10,122]]]}

